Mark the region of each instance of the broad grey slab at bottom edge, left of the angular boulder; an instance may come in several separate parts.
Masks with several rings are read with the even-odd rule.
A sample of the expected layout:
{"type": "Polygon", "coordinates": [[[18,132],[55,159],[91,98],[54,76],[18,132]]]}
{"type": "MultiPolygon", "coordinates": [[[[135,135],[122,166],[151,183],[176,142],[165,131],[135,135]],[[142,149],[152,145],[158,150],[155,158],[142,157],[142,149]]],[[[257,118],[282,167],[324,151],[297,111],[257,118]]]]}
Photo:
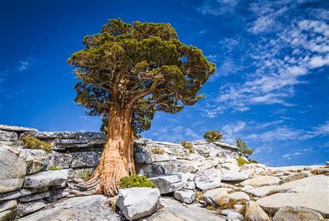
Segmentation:
{"type": "Polygon", "coordinates": [[[108,206],[110,198],[103,195],[89,195],[73,197],[58,204],[51,209],[43,209],[20,220],[110,220],[119,221],[119,215],[108,206]],[[65,209],[69,207],[68,209],[65,209]]]}

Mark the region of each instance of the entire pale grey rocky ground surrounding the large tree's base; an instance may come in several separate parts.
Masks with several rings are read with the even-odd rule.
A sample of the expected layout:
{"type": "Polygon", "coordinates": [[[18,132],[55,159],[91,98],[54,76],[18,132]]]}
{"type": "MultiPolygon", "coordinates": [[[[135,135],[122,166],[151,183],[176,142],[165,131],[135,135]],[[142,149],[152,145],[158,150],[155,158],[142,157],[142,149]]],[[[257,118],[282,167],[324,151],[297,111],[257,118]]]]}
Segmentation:
{"type": "Polygon", "coordinates": [[[134,148],[137,170],[157,188],[121,189],[114,198],[76,197],[76,171],[85,169],[85,161],[91,170],[98,163],[101,135],[25,130],[55,150],[22,149],[17,141],[25,131],[0,125],[0,143],[6,144],[0,145],[0,220],[329,219],[328,164],[239,166],[242,155],[225,143],[195,141],[189,153],[176,143],[141,139],[134,148]]]}

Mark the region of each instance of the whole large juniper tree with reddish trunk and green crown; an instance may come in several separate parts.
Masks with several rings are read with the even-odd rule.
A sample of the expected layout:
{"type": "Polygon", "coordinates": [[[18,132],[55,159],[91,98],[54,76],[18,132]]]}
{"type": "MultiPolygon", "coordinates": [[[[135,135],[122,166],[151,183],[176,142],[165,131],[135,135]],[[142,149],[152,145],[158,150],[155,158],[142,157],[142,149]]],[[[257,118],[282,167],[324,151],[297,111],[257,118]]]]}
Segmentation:
{"type": "Polygon", "coordinates": [[[120,178],[135,173],[134,134],[149,129],[155,111],[174,114],[203,98],[198,92],[215,66],[199,48],[180,42],[170,24],[110,19],[83,43],[68,59],[80,80],[76,102],[87,114],[103,116],[107,133],[99,165],[85,185],[112,196],[120,178]]]}

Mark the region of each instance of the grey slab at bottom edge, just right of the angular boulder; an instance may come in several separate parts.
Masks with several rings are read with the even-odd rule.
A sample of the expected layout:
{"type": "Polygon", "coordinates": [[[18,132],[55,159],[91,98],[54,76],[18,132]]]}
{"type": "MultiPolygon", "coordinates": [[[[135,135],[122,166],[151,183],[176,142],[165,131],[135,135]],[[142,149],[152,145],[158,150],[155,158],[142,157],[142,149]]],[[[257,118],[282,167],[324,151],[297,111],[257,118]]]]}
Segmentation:
{"type": "Polygon", "coordinates": [[[189,204],[183,206],[181,202],[173,200],[169,197],[160,198],[160,206],[158,211],[151,215],[147,221],[225,221],[223,216],[212,213],[211,211],[201,208],[200,204],[189,204]]]}

